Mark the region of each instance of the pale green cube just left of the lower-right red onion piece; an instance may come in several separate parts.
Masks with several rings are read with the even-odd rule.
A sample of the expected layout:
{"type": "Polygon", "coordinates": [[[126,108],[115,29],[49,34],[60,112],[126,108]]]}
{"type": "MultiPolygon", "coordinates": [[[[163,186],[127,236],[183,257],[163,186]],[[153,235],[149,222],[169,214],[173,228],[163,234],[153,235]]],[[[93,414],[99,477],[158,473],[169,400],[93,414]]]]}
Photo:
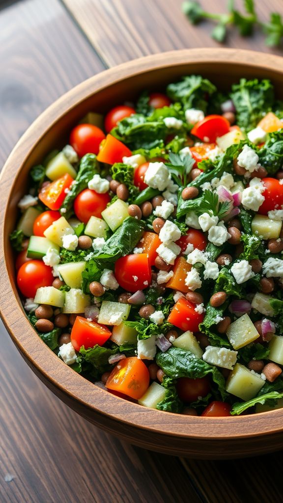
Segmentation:
{"type": "Polygon", "coordinates": [[[247,346],[247,344],[252,343],[259,337],[259,333],[248,314],[244,314],[236,321],[233,321],[229,325],[226,335],[234,349],[247,346]]]}

